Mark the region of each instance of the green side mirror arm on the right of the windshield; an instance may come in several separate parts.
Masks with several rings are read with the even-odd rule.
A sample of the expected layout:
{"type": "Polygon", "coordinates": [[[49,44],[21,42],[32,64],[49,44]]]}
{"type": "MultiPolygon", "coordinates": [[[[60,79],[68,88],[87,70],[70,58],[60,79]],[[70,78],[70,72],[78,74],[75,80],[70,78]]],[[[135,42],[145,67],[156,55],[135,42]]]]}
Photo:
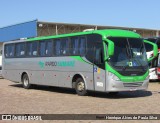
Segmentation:
{"type": "Polygon", "coordinates": [[[155,43],[152,43],[150,41],[144,40],[145,45],[151,45],[153,48],[153,55],[151,57],[148,57],[148,62],[152,61],[157,55],[158,55],[158,46],[155,43]]]}

